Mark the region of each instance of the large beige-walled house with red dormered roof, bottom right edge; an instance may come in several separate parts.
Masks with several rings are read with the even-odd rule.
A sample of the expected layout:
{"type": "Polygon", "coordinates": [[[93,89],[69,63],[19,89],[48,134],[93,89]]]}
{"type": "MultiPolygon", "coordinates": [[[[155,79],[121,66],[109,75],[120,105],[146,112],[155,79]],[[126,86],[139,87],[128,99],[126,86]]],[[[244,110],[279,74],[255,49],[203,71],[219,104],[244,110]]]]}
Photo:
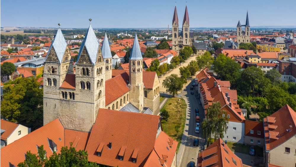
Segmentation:
{"type": "Polygon", "coordinates": [[[266,166],[296,165],[296,112],[286,104],[263,119],[266,166]]]}

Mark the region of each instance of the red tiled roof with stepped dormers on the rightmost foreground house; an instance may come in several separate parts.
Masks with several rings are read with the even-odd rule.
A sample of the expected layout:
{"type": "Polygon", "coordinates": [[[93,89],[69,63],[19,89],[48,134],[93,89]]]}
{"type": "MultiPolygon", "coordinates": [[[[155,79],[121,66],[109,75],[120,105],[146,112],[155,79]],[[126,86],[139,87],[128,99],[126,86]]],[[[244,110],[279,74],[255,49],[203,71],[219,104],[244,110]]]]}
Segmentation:
{"type": "Polygon", "coordinates": [[[269,117],[264,118],[263,123],[266,150],[273,149],[296,134],[296,112],[288,104],[269,117]],[[270,127],[268,125],[274,126],[270,127]]]}

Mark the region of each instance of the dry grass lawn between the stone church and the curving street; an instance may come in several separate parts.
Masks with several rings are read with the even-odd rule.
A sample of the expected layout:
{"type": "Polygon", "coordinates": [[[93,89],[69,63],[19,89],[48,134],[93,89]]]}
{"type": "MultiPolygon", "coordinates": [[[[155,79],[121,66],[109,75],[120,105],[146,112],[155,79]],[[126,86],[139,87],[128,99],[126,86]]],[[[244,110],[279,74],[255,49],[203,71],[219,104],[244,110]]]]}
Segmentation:
{"type": "Polygon", "coordinates": [[[186,108],[187,105],[184,99],[171,97],[160,110],[160,112],[162,112],[165,109],[170,114],[168,121],[162,121],[163,131],[171,138],[178,141],[177,153],[184,131],[186,108]],[[178,101],[178,99],[180,99],[180,101],[178,101]]]}

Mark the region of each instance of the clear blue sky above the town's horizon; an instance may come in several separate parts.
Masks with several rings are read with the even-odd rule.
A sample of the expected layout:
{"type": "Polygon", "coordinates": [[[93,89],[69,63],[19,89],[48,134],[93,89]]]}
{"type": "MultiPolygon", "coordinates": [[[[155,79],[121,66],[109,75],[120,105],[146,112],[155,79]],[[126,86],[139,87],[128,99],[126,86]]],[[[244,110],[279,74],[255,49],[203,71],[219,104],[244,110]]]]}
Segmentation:
{"type": "MultiPolygon", "coordinates": [[[[181,28],[186,0],[176,0],[181,28]]],[[[190,27],[296,26],[296,0],[187,0],[190,27]]],[[[1,0],[1,27],[165,28],[172,25],[175,0],[1,0]]]]}

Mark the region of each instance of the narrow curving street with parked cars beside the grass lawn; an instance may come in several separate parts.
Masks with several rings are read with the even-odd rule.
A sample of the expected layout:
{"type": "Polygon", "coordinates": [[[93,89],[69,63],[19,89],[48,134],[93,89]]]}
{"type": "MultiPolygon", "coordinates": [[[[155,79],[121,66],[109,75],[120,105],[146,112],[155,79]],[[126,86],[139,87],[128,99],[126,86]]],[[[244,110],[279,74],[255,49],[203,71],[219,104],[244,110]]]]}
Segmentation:
{"type": "MultiPolygon", "coordinates": [[[[202,109],[202,106],[199,104],[200,99],[198,98],[198,93],[194,91],[194,95],[190,94],[193,90],[190,90],[190,87],[194,81],[189,83],[188,86],[186,86],[186,89],[184,89],[179,96],[183,96],[183,98],[186,98],[188,101],[188,109],[189,109],[189,127],[188,127],[188,135],[184,147],[184,152],[181,158],[181,162],[177,163],[180,167],[188,167],[190,161],[194,161],[197,163],[197,155],[200,151],[204,150],[205,145],[205,139],[202,136],[202,128],[200,127],[200,133],[195,133],[195,127],[196,127],[196,114],[195,109],[199,109],[200,113],[200,124],[202,123],[202,120],[205,118],[205,112],[202,109]],[[193,141],[194,139],[199,140],[199,146],[194,146],[193,141]]],[[[194,88],[195,89],[195,88],[194,88]]],[[[188,119],[188,118],[187,118],[188,119]]],[[[186,124],[187,125],[187,124],[186,124]]],[[[179,150],[181,151],[181,150],[179,150]]]]}

